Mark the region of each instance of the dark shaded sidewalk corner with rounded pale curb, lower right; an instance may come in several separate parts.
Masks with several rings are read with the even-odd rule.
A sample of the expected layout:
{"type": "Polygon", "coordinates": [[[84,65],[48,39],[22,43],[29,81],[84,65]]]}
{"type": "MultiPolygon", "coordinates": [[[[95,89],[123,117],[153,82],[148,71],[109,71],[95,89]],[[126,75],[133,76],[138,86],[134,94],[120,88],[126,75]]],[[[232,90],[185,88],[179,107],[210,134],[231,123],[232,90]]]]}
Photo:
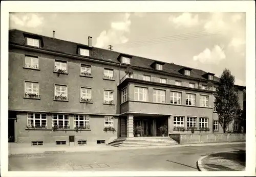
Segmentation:
{"type": "Polygon", "coordinates": [[[200,158],[197,166],[199,171],[244,171],[245,150],[210,154],[200,158]]]}

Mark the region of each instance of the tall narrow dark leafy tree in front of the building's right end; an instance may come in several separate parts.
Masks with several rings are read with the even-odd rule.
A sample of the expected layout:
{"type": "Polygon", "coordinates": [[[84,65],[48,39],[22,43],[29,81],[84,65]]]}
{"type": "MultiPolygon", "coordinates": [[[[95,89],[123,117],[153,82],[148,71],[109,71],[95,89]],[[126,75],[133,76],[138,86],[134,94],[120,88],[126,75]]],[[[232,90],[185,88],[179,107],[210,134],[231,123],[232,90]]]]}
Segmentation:
{"type": "Polygon", "coordinates": [[[215,94],[215,107],[224,133],[226,126],[240,115],[240,105],[234,81],[234,76],[228,69],[225,69],[220,77],[220,87],[215,94]]]}

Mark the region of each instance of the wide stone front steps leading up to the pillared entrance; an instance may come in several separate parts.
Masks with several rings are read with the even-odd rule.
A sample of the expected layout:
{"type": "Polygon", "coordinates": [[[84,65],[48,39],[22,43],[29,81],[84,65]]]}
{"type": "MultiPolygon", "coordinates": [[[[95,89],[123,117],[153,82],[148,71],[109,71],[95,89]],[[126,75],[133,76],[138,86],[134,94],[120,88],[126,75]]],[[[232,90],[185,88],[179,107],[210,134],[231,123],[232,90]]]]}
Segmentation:
{"type": "Polygon", "coordinates": [[[177,145],[170,137],[118,137],[108,145],[115,147],[177,145]]]}

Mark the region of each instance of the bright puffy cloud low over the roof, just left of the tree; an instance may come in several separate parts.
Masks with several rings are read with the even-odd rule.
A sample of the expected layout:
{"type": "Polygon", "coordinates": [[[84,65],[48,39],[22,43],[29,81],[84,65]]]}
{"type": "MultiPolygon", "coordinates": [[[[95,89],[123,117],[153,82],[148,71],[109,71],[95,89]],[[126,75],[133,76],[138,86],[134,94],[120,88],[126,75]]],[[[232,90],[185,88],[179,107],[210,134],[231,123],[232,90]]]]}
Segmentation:
{"type": "Polygon", "coordinates": [[[226,55],[219,45],[215,45],[211,50],[205,48],[203,52],[193,57],[194,61],[201,63],[219,64],[221,60],[224,60],[226,55]]]}

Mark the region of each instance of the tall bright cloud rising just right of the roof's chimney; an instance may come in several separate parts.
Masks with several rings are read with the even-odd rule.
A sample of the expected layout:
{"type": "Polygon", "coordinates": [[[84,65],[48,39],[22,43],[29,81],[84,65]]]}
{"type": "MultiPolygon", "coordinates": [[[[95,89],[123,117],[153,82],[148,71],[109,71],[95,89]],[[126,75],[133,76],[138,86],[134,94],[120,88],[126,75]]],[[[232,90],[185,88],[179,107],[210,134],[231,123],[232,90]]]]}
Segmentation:
{"type": "Polygon", "coordinates": [[[129,41],[124,34],[130,32],[131,20],[130,13],[125,13],[122,21],[111,22],[110,30],[102,31],[97,37],[96,47],[104,48],[110,44],[126,43],[129,41]]]}

